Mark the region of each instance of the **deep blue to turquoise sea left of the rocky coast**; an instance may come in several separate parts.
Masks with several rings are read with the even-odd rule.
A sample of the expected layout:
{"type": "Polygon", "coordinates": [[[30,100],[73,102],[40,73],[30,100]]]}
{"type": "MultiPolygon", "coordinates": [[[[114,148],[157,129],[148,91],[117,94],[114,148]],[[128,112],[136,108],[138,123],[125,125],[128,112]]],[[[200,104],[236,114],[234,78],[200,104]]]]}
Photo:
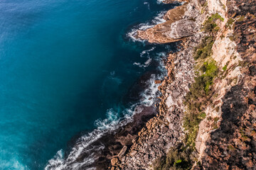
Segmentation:
{"type": "Polygon", "coordinates": [[[140,55],[154,45],[127,33],[168,8],[156,0],[1,0],[0,169],[44,169],[107,111],[136,102],[129,90],[156,65],[134,62],[146,62],[140,55]]]}

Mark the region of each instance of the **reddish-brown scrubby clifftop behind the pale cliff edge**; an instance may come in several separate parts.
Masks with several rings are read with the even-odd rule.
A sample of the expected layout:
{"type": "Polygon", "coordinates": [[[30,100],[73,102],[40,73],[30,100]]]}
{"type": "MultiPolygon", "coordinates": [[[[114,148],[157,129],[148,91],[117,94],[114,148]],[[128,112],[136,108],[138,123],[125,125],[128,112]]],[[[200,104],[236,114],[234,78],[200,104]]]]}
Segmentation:
{"type": "Polygon", "coordinates": [[[228,17],[240,18],[233,25],[233,41],[244,63],[242,79],[225,92],[219,128],[210,133],[195,169],[256,169],[255,6],[256,1],[228,1],[228,17]]]}

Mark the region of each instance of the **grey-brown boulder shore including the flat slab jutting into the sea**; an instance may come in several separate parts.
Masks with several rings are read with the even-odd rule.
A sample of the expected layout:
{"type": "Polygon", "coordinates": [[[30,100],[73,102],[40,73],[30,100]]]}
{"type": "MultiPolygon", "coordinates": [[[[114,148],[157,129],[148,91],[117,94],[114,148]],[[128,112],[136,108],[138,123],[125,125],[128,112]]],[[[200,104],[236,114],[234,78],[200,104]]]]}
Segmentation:
{"type": "MultiPolygon", "coordinates": [[[[193,29],[191,30],[185,29],[185,32],[182,32],[182,28],[174,28],[175,30],[181,30],[181,32],[178,37],[172,40],[164,38],[164,34],[170,30],[170,25],[176,21],[184,21],[183,28],[186,26],[191,27],[190,18],[192,16],[199,16],[199,13],[191,4],[186,3],[168,11],[164,16],[167,20],[166,23],[145,31],[138,31],[138,37],[149,42],[180,41],[181,50],[166,57],[168,74],[161,81],[161,86],[159,86],[159,91],[162,94],[161,101],[158,104],[159,113],[156,117],[151,118],[138,133],[138,137],[134,140],[127,154],[119,157],[118,161],[114,158],[115,161],[112,162],[112,166],[109,169],[150,169],[150,166],[157,158],[165,155],[171,147],[178,147],[182,142],[184,137],[182,119],[185,111],[183,98],[189,91],[188,84],[193,82],[193,48],[198,45],[203,34],[194,34],[200,30],[200,25],[196,24],[195,21],[192,23],[193,29]],[[185,8],[190,8],[191,11],[187,11],[185,8]],[[176,15],[175,18],[173,18],[174,15],[176,15]],[[166,30],[162,29],[158,32],[159,27],[165,27],[166,30]],[[149,34],[149,36],[144,36],[144,34],[149,34]]],[[[202,20],[202,18],[198,17],[198,20],[202,20]]],[[[180,25],[178,26],[180,27],[180,25]]]]}

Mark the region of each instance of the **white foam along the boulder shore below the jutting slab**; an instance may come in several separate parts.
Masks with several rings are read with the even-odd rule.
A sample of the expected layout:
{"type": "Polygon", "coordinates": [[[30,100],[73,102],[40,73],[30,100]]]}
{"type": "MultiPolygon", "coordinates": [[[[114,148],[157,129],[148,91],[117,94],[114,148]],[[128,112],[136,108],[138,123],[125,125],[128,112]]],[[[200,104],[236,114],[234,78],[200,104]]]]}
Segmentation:
{"type": "MultiPolygon", "coordinates": [[[[152,49],[150,49],[152,50],[152,49]]],[[[150,50],[145,50],[145,52],[142,52],[143,54],[146,54],[146,52],[149,52],[150,50]]],[[[153,49],[154,50],[154,49],[153,49]]],[[[113,132],[114,130],[117,130],[117,128],[126,125],[127,123],[132,121],[132,115],[140,113],[143,111],[142,107],[139,107],[141,105],[144,106],[153,106],[154,101],[156,99],[156,96],[159,95],[158,87],[159,84],[155,84],[156,79],[163,79],[164,76],[166,76],[166,70],[164,70],[164,64],[161,62],[161,56],[164,56],[165,53],[161,52],[156,54],[158,55],[158,60],[161,63],[159,65],[159,70],[162,70],[162,74],[156,76],[156,74],[152,74],[151,78],[146,81],[146,84],[148,84],[148,88],[145,89],[145,91],[140,94],[142,97],[142,101],[139,103],[134,103],[129,108],[122,111],[122,115],[124,115],[124,120],[120,120],[119,113],[114,111],[114,109],[107,110],[106,113],[106,119],[105,120],[96,120],[95,125],[97,125],[97,129],[90,132],[88,135],[84,135],[79,138],[78,142],[76,143],[75,147],[71,150],[71,152],[68,154],[68,157],[65,159],[63,150],[60,149],[60,151],[55,154],[55,157],[53,159],[50,159],[48,161],[48,165],[46,166],[45,170],[64,170],[64,169],[80,169],[82,166],[90,165],[92,164],[95,159],[97,158],[95,156],[96,152],[100,152],[100,150],[104,149],[104,145],[98,145],[98,146],[92,146],[92,142],[95,142],[98,140],[102,135],[104,135],[106,132],[113,132]],[[136,108],[136,109],[135,109],[136,108]],[[94,152],[91,152],[94,151],[94,152]],[[85,159],[82,160],[82,162],[76,162],[76,159],[80,157],[81,154],[89,154],[85,159]]],[[[143,56],[143,55],[142,55],[143,56]]],[[[149,63],[149,62],[147,62],[149,63]]],[[[112,72],[112,74],[114,74],[112,72]]],[[[94,168],[90,168],[94,169],[94,168]]]]}

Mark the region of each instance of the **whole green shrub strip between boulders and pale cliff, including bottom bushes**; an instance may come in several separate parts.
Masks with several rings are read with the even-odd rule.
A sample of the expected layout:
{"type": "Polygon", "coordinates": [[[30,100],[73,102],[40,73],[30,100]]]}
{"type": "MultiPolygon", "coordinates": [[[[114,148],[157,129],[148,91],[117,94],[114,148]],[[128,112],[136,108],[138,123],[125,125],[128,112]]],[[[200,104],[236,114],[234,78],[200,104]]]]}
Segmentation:
{"type": "MultiPolygon", "coordinates": [[[[186,130],[183,144],[181,147],[172,147],[164,157],[157,159],[153,164],[154,170],[191,169],[193,162],[196,162],[192,153],[196,148],[195,142],[199,124],[206,118],[206,113],[203,111],[214,96],[211,86],[219,73],[215,60],[210,57],[215,33],[219,30],[217,23],[215,23],[218,20],[224,21],[224,18],[215,13],[203,23],[203,30],[208,33],[208,36],[203,38],[201,44],[196,47],[193,56],[197,61],[196,77],[184,101],[187,112],[183,118],[183,128],[186,130]]],[[[217,121],[217,119],[213,120],[215,127],[217,121]]]]}

